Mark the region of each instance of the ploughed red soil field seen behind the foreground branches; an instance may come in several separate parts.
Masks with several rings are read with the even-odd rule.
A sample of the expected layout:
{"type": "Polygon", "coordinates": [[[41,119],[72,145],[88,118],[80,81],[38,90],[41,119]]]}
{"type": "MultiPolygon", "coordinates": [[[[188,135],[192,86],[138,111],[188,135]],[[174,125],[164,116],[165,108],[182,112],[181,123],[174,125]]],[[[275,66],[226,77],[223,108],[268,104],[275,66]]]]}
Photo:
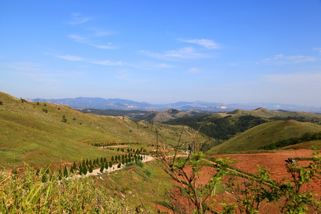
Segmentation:
{"type": "MultiPolygon", "coordinates": [[[[260,153],[260,154],[228,154],[228,155],[215,155],[214,158],[227,158],[230,157],[233,160],[238,161],[238,163],[231,164],[231,166],[235,168],[239,168],[245,172],[248,173],[254,173],[258,167],[257,165],[261,167],[265,167],[265,169],[268,169],[272,173],[272,179],[275,179],[277,181],[281,181],[282,178],[289,178],[291,179],[291,175],[287,172],[286,165],[288,164],[285,160],[288,158],[312,158],[313,156],[310,155],[311,153],[315,153],[314,150],[307,150],[307,149],[301,149],[301,150],[288,150],[288,151],[279,151],[276,153],[260,153]]],[[[296,160],[296,164],[306,167],[309,165],[311,161],[298,161],[296,160]]],[[[186,167],[186,171],[189,173],[192,173],[191,167],[186,167]]],[[[213,167],[202,167],[200,177],[198,180],[199,185],[205,185],[208,183],[209,178],[213,176],[216,173],[215,168],[213,167]]],[[[227,183],[229,179],[229,176],[226,176],[223,179],[223,183],[227,183]]],[[[239,177],[239,182],[242,182],[242,177],[239,177]]],[[[181,186],[177,181],[171,180],[173,183],[181,186]]],[[[312,182],[309,182],[303,188],[301,189],[303,192],[311,191],[313,193],[317,193],[318,195],[321,195],[321,178],[312,178],[312,182]]],[[[187,200],[186,198],[183,198],[180,189],[179,188],[173,188],[172,189],[174,198],[176,198],[176,202],[179,202],[180,204],[184,204],[187,208],[186,213],[189,213],[191,209],[194,208],[194,206],[191,204],[190,200],[187,200]]],[[[220,202],[226,202],[224,200],[228,200],[231,202],[235,202],[234,194],[225,192],[221,194],[217,194],[214,196],[216,200],[216,204],[220,202]]],[[[174,202],[174,201],[173,201],[174,202]]],[[[260,213],[280,213],[281,210],[279,208],[280,205],[284,204],[284,199],[280,199],[276,203],[267,203],[262,210],[260,210],[260,213]]],[[[208,204],[210,204],[211,201],[208,201],[208,204]]],[[[262,204],[262,206],[265,203],[262,204]]],[[[215,205],[212,207],[213,210],[217,212],[221,212],[223,210],[223,207],[221,205],[215,205]]],[[[163,210],[163,209],[162,209],[163,210]]],[[[163,210],[165,211],[165,210],[163,210]]],[[[168,212],[169,210],[167,210],[168,212]]],[[[237,213],[238,210],[235,210],[237,213]]],[[[206,213],[210,213],[207,211],[206,213]]]]}

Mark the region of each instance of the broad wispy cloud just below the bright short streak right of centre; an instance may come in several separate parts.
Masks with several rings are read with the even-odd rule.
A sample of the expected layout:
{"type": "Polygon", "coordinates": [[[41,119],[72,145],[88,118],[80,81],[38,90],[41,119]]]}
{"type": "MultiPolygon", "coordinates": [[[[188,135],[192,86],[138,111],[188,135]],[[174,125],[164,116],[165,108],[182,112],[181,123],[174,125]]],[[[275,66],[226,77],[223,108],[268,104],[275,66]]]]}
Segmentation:
{"type": "Polygon", "coordinates": [[[153,58],[169,61],[209,57],[205,54],[197,53],[193,47],[183,47],[179,50],[165,51],[163,53],[152,53],[145,50],[139,51],[139,53],[153,58]]]}

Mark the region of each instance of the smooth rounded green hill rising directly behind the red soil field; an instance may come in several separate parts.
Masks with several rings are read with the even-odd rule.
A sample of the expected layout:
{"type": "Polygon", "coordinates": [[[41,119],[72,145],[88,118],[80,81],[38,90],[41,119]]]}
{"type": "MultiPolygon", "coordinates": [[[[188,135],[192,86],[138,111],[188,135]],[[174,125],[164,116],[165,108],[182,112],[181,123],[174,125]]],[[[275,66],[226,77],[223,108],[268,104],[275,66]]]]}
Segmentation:
{"type": "Polygon", "coordinates": [[[274,121],[260,124],[238,134],[224,143],[213,147],[208,154],[217,152],[244,152],[282,139],[301,136],[306,132],[320,132],[321,125],[302,123],[295,120],[274,121]]]}

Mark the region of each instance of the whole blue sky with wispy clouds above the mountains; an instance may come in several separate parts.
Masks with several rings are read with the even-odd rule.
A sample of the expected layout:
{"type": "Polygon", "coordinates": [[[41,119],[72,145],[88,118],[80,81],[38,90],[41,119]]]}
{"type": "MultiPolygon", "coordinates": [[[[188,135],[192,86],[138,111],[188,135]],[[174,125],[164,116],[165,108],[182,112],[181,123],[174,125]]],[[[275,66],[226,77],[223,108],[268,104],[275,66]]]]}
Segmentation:
{"type": "Polygon", "coordinates": [[[0,1],[22,98],[321,106],[320,1],[0,1]]]}

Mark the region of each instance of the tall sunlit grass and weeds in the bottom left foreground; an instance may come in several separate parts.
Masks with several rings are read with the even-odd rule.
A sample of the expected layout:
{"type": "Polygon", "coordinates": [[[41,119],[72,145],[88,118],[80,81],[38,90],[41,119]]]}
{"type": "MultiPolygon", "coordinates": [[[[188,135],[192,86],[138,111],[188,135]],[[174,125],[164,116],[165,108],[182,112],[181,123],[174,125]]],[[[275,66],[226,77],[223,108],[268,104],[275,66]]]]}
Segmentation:
{"type": "Polygon", "coordinates": [[[0,171],[0,214],[4,213],[134,213],[122,200],[97,186],[91,177],[62,179],[27,167],[25,177],[0,171]]]}

